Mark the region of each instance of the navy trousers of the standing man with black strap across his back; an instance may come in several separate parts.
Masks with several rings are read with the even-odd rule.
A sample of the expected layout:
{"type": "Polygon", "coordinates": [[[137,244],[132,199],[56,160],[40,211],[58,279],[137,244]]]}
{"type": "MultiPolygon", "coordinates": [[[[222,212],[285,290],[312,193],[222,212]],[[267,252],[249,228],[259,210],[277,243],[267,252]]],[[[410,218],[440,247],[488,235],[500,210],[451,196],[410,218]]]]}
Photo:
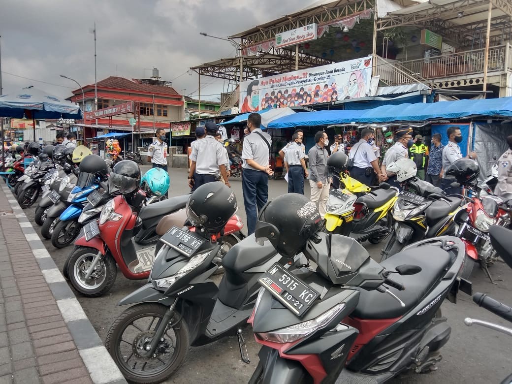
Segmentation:
{"type": "Polygon", "coordinates": [[[242,173],[242,191],[244,194],[245,214],[247,216],[247,234],[256,229],[257,207],[260,211],[267,203],[268,175],[260,170],[244,168],[242,173]]]}

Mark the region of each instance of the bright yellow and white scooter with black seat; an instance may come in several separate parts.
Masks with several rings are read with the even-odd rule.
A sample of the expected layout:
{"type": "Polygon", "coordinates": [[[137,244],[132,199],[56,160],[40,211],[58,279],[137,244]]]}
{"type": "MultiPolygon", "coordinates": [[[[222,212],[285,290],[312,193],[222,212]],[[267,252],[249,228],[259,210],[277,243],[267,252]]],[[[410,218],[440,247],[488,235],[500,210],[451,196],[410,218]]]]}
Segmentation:
{"type": "Polygon", "coordinates": [[[327,200],[326,231],[378,244],[391,231],[398,190],[388,183],[372,189],[346,173],[338,177],[340,188],[332,189],[327,200]]]}

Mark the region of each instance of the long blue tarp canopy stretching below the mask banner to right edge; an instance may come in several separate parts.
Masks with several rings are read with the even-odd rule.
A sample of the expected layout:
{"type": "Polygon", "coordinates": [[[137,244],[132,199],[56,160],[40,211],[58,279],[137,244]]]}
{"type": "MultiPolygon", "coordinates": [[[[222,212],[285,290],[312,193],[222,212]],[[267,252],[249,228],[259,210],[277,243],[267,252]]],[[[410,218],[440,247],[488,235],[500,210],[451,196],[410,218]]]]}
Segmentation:
{"type": "Polygon", "coordinates": [[[268,128],[292,128],[348,123],[379,123],[392,121],[425,121],[460,119],[469,116],[512,116],[512,97],[486,100],[439,101],[382,105],[371,110],[333,110],[296,113],[273,120],[268,128]]]}

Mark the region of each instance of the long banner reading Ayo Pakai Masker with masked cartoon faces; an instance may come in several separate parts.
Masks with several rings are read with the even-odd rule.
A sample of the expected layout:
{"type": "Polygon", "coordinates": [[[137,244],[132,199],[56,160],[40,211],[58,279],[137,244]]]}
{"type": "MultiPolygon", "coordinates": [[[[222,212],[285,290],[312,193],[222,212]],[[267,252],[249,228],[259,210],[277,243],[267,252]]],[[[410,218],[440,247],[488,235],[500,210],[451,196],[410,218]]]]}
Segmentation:
{"type": "Polygon", "coordinates": [[[374,96],[372,56],[243,81],[240,113],[374,96]]]}

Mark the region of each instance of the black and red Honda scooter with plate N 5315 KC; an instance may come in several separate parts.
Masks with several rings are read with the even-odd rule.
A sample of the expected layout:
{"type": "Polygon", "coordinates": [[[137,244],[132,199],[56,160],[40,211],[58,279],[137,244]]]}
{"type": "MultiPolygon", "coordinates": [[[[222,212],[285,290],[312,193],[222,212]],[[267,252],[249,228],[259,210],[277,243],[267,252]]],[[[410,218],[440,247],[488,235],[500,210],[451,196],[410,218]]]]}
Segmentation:
{"type": "Polygon", "coordinates": [[[379,264],[354,239],[317,232],[304,254],[316,269],[275,264],[259,279],[249,383],[382,383],[436,369],[451,334],[441,303],[471,293],[457,277],[460,239],[422,240],[379,264]]]}

